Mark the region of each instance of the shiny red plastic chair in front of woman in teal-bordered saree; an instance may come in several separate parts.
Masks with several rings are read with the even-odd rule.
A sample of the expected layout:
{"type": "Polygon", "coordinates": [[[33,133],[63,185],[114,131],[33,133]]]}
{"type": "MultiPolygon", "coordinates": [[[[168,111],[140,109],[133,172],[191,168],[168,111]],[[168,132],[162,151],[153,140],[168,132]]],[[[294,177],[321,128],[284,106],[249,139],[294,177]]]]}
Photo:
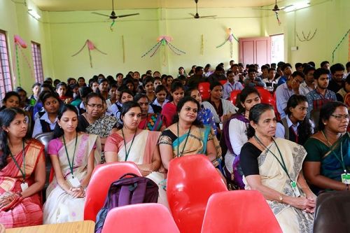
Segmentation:
{"type": "Polygon", "coordinates": [[[181,233],[199,233],[209,197],[227,191],[213,164],[204,155],[188,155],[169,163],[167,197],[181,233]]]}

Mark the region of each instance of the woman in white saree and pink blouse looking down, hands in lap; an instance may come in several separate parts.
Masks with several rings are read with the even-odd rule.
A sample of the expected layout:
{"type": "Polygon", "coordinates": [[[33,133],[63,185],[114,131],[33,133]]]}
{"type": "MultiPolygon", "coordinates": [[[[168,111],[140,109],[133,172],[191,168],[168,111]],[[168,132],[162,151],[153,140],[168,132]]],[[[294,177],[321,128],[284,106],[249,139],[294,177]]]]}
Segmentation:
{"type": "Polygon", "coordinates": [[[70,104],[59,109],[59,127],[48,144],[55,175],[46,190],[43,223],[83,220],[85,190],[101,160],[99,136],[77,132],[78,111],[70,104]]]}

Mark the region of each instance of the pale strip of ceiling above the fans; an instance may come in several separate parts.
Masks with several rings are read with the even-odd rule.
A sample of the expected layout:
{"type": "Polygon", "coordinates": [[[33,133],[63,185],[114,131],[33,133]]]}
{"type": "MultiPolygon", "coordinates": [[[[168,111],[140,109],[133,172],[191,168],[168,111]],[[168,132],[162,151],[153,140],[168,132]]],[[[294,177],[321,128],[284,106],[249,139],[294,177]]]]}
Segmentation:
{"type": "MultiPolygon", "coordinates": [[[[112,0],[32,0],[38,8],[47,11],[110,10],[112,0]]],[[[260,7],[274,5],[275,0],[198,0],[199,8],[260,7]]],[[[278,0],[277,3],[281,3],[278,0]]],[[[281,3],[281,6],[283,4],[281,3]]],[[[114,0],[120,9],[195,8],[194,0],[114,0]]]]}

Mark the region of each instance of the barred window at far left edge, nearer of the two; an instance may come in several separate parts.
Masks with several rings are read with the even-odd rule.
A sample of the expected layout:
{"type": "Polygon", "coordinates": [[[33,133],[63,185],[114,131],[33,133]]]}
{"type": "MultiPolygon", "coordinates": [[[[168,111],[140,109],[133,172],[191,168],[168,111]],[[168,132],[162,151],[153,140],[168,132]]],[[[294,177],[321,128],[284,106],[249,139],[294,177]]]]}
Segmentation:
{"type": "Polygon", "coordinates": [[[12,79],[10,73],[10,62],[8,60],[8,46],[6,41],[6,31],[0,30],[0,96],[5,97],[5,93],[12,90],[12,79]]]}

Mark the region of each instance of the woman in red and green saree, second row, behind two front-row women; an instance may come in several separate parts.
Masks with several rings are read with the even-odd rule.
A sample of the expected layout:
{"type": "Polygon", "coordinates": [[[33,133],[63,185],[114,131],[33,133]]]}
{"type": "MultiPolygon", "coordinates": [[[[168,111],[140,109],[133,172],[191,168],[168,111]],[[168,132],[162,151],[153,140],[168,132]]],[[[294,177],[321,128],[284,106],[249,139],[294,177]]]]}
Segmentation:
{"type": "Polygon", "coordinates": [[[156,113],[148,113],[150,104],[146,94],[137,94],[134,97],[134,101],[137,101],[141,107],[141,122],[139,124],[139,129],[163,132],[165,125],[163,125],[161,115],[156,113]]]}

